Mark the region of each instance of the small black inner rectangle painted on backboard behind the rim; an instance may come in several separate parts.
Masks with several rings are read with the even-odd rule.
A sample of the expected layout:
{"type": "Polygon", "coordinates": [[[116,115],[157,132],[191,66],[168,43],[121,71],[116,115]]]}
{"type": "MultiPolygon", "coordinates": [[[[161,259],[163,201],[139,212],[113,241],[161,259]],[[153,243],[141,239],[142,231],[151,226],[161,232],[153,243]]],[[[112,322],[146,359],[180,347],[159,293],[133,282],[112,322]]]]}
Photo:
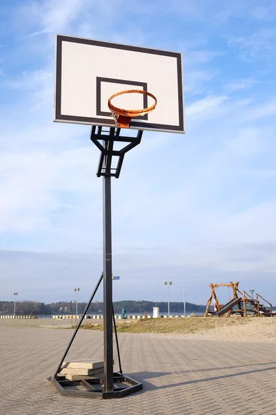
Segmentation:
{"type": "MultiPolygon", "coordinates": [[[[105,116],[109,117],[110,112],[101,111],[101,82],[110,82],[112,84],[122,84],[122,85],[133,85],[133,86],[141,86],[143,91],[148,91],[148,84],[146,82],[135,82],[135,81],[128,81],[128,80],[115,80],[112,78],[106,77],[97,77],[97,84],[96,84],[96,113],[97,116],[105,116]]],[[[118,91],[119,92],[119,91],[118,91]]],[[[148,108],[148,95],[143,95],[143,106],[144,109],[148,108]]],[[[145,120],[148,121],[148,114],[144,116],[135,117],[135,120],[145,120]]]]}

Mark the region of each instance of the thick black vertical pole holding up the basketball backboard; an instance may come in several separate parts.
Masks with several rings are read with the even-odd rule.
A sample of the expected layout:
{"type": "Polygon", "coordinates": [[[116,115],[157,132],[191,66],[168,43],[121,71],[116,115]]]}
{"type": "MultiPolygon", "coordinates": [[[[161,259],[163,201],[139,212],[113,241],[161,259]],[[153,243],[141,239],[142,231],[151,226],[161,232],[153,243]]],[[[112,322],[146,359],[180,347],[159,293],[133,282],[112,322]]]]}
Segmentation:
{"type": "Polygon", "coordinates": [[[105,392],[113,391],[111,177],[103,177],[103,360],[105,392]]]}

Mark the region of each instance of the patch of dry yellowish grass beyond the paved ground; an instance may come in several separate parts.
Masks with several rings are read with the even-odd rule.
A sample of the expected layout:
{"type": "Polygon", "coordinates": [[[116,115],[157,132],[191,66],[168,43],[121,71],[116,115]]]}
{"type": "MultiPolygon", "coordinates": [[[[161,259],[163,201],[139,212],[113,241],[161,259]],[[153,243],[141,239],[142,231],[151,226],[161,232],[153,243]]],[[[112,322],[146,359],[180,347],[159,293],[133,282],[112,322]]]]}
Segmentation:
{"type": "MultiPolygon", "coordinates": [[[[246,324],[247,318],[240,317],[188,317],[188,318],[156,318],[144,320],[117,321],[118,333],[196,333],[212,330],[217,326],[233,326],[246,324]]],[[[81,329],[103,331],[103,322],[86,323],[81,329]]]]}

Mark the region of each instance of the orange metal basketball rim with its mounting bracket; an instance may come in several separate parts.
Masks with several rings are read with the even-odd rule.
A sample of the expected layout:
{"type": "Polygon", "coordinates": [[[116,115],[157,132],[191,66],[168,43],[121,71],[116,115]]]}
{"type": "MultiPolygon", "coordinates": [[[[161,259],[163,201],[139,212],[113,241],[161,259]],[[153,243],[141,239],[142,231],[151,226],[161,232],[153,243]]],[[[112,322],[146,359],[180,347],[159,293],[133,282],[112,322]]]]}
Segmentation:
{"type": "Polygon", "coordinates": [[[126,91],[117,92],[111,95],[111,97],[108,100],[108,108],[112,113],[112,117],[115,119],[116,127],[120,128],[130,128],[130,121],[133,117],[144,116],[144,114],[150,113],[155,109],[156,104],[157,98],[155,97],[155,95],[147,91],[142,91],[140,89],[127,89],[126,91]],[[123,109],[115,107],[115,105],[111,104],[111,100],[113,98],[117,97],[118,95],[123,95],[124,93],[142,93],[144,95],[148,95],[153,100],[155,100],[155,103],[151,105],[151,107],[144,109],[123,109]]]}

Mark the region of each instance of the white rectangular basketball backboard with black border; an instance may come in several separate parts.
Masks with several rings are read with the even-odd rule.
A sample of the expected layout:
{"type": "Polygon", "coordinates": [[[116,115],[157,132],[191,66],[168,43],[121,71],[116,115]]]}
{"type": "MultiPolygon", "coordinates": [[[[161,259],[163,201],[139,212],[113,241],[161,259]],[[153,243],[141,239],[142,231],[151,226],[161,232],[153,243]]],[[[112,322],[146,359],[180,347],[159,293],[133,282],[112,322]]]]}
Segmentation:
{"type": "MultiPolygon", "coordinates": [[[[184,133],[181,53],[57,35],[55,122],[114,127],[108,98],[127,89],[157,98],[151,113],[132,118],[130,128],[184,133]]],[[[149,107],[140,93],[112,101],[124,109],[149,107]]]]}

